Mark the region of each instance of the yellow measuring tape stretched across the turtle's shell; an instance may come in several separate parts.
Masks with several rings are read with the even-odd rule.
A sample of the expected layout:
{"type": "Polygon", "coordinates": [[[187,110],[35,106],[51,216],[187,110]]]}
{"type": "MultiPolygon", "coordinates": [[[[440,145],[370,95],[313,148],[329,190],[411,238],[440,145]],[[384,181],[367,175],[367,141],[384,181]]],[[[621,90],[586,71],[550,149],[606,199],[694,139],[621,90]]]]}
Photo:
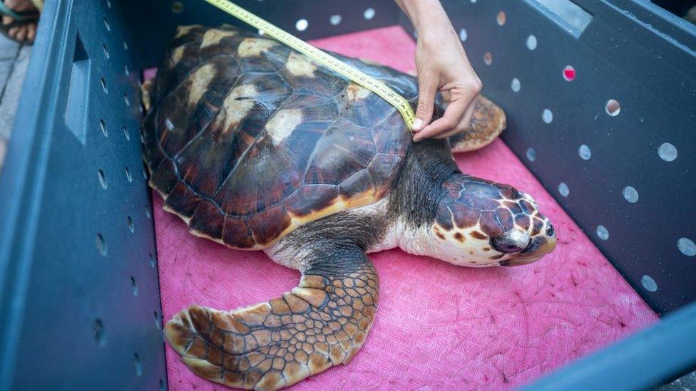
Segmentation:
{"type": "Polygon", "coordinates": [[[295,51],[299,51],[320,65],[325,66],[332,71],[353,80],[355,83],[362,85],[364,88],[371,90],[373,93],[376,93],[384,100],[387,100],[387,102],[394,106],[396,110],[399,110],[399,113],[401,113],[401,116],[404,117],[404,121],[406,121],[406,125],[409,126],[409,129],[413,127],[413,122],[416,119],[416,115],[414,114],[413,110],[411,110],[411,105],[409,105],[409,102],[404,99],[403,96],[394,92],[394,90],[387,87],[386,84],[372,78],[356,68],[353,68],[352,66],[349,66],[347,63],[344,63],[343,61],[324,53],[324,51],[321,49],[309,45],[309,43],[302,41],[302,39],[282,30],[282,28],[278,28],[277,26],[270,24],[269,22],[250,13],[242,7],[237,6],[237,4],[234,4],[229,0],[205,1],[208,1],[208,3],[213,4],[213,6],[222,9],[222,11],[227,12],[227,14],[230,14],[247,24],[254,26],[255,28],[258,28],[259,30],[262,30],[265,35],[271,36],[272,38],[285,43],[285,45],[290,46],[290,48],[295,49],[295,51]]]}

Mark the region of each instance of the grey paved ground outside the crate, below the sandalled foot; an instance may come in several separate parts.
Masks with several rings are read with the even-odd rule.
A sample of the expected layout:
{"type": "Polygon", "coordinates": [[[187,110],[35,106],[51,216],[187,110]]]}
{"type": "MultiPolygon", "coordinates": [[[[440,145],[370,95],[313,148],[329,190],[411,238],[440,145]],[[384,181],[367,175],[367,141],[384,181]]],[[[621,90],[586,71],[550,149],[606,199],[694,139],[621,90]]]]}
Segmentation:
{"type": "Polygon", "coordinates": [[[5,160],[30,56],[31,46],[20,45],[0,35],[0,169],[5,160]]]}

